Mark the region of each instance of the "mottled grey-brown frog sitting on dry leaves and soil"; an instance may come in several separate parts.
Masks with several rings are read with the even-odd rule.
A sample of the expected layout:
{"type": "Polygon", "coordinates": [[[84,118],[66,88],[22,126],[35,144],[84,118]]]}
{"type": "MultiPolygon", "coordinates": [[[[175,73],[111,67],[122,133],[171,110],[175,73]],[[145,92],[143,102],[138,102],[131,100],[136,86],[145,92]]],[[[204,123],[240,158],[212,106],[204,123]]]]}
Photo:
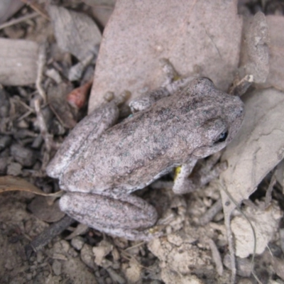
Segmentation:
{"type": "Polygon", "coordinates": [[[197,160],[221,151],[239,131],[239,97],[207,77],[177,79],[165,66],[170,79],[134,99],[131,116],[117,123],[123,96],[105,102],[75,126],[48,164],[48,175],[65,191],[60,209],[78,222],[131,241],[160,236],[155,207],[133,192],[175,169],[173,192],[192,192],[201,185],[189,178],[197,160]]]}

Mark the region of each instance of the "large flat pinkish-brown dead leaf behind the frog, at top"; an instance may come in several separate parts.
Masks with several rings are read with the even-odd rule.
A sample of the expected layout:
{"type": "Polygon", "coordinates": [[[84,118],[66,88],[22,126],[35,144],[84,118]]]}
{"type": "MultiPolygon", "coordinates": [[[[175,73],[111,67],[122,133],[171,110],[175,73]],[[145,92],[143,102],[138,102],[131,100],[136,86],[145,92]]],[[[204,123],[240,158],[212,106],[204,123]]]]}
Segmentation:
{"type": "Polygon", "coordinates": [[[211,78],[226,90],[239,64],[241,18],[237,1],[116,1],[104,29],[89,112],[108,91],[132,98],[160,87],[168,58],[183,76],[211,78]]]}

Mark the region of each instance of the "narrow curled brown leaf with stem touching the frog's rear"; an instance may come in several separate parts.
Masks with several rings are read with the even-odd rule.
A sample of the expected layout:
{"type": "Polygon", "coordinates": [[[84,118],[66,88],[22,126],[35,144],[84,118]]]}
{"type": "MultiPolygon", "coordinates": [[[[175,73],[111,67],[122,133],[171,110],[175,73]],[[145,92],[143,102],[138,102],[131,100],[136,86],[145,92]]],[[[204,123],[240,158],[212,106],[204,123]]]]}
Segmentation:
{"type": "Polygon", "coordinates": [[[32,192],[35,195],[43,195],[43,196],[53,196],[53,197],[60,197],[62,192],[55,192],[55,193],[45,193],[35,187],[30,182],[23,180],[23,178],[12,177],[11,175],[6,175],[4,177],[0,177],[0,193],[7,192],[7,191],[27,191],[32,192]]]}

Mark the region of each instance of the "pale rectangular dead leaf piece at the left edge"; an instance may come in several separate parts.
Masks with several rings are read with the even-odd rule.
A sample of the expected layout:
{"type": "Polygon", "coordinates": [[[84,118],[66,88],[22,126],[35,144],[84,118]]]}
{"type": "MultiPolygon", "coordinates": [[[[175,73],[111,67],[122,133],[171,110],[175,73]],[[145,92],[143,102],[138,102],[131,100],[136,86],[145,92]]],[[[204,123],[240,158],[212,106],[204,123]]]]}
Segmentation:
{"type": "Polygon", "coordinates": [[[19,86],[35,83],[37,60],[37,43],[0,38],[0,84],[19,86]]]}

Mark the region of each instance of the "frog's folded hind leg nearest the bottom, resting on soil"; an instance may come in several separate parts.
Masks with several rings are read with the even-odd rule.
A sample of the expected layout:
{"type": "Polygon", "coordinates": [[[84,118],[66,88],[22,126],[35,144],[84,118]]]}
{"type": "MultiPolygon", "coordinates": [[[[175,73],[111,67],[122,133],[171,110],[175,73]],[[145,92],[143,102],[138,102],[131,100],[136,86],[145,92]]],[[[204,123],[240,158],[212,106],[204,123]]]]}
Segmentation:
{"type": "Polygon", "coordinates": [[[120,195],[117,200],[102,195],[67,192],[60,199],[60,209],[77,221],[113,236],[150,241],[161,235],[151,228],[158,219],[155,208],[133,195],[120,195]]]}

